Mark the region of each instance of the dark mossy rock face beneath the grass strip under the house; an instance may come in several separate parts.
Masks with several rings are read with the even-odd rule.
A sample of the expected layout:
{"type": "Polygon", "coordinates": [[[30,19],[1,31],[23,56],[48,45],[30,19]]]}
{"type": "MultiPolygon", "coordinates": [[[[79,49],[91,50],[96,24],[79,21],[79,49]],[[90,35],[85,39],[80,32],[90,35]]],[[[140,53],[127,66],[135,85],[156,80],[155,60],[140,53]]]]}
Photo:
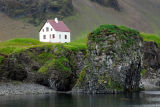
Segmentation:
{"type": "Polygon", "coordinates": [[[58,91],[75,85],[84,66],[85,50],[45,46],[9,55],[1,62],[1,80],[34,82],[58,91]]]}

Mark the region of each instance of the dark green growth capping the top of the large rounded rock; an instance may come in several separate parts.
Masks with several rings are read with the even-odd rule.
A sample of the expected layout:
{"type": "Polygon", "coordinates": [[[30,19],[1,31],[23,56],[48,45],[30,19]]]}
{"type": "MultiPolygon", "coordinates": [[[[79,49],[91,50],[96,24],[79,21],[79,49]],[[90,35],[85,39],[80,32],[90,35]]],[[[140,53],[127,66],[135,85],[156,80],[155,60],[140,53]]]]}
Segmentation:
{"type": "Polygon", "coordinates": [[[89,34],[88,39],[96,42],[102,43],[109,35],[118,35],[117,38],[123,41],[123,48],[130,47],[136,43],[136,39],[139,36],[139,32],[124,26],[116,26],[116,25],[101,25],[97,29],[95,29],[92,33],[89,34]]]}

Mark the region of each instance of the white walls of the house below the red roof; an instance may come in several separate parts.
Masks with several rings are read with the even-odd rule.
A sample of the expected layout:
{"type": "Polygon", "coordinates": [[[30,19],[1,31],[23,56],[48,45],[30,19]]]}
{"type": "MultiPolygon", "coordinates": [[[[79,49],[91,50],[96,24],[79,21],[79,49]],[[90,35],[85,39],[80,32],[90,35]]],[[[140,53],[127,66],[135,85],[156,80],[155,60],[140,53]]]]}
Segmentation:
{"type": "Polygon", "coordinates": [[[53,27],[46,22],[41,31],[39,32],[39,40],[41,42],[52,42],[52,43],[69,43],[70,42],[70,32],[59,32],[55,31],[53,27]],[[46,31],[46,27],[49,28],[49,31],[46,31]],[[52,31],[51,31],[52,28],[52,31]],[[44,29],[44,32],[43,32],[44,29]],[[54,34],[55,38],[50,38],[50,35],[54,34]],[[46,39],[43,38],[43,36],[46,35],[46,39]],[[65,39],[65,35],[67,35],[67,39],[65,39]]]}

